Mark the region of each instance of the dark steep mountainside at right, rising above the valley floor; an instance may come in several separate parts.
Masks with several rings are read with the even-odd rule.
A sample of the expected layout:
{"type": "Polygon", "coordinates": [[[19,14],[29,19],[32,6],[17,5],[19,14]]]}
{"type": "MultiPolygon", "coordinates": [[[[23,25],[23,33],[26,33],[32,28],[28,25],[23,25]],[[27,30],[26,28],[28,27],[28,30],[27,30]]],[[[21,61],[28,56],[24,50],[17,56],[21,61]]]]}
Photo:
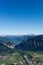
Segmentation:
{"type": "Polygon", "coordinates": [[[22,50],[43,51],[43,35],[22,41],[18,46],[16,45],[16,48],[22,50]]]}

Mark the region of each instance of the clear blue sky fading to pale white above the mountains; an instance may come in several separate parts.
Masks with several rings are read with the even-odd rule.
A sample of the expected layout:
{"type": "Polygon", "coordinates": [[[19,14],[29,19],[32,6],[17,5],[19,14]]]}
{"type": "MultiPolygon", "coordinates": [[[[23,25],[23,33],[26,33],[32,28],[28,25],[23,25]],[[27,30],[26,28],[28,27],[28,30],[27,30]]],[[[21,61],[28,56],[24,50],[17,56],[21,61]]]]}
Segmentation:
{"type": "Polygon", "coordinates": [[[1,34],[43,34],[43,0],[0,0],[1,34]]]}

